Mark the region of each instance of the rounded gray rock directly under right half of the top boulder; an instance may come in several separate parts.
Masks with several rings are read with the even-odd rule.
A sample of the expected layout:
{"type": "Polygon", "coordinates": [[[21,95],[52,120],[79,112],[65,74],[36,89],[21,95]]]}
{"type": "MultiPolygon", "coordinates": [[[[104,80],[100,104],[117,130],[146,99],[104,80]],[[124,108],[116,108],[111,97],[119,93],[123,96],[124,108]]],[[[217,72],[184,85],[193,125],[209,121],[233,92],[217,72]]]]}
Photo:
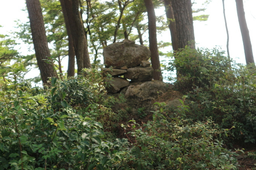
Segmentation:
{"type": "Polygon", "coordinates": [[[124,78],[130,79],[133,82],[151,81],[153,72],[154,70],[151,66],[128,68],[127,72],[124,74],[124,78]]]}

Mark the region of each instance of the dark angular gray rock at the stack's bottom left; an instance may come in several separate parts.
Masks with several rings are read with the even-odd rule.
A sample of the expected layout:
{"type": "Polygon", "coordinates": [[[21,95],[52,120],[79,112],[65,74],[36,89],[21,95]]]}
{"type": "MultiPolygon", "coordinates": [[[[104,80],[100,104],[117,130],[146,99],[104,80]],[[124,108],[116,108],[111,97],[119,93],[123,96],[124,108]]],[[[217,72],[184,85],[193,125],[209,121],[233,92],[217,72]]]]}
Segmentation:
{"type": "Polygon", "coordinates": [[[129,81],[121,77],[113,77],[112,80],[108,80],[105,83],[108,83],[106,89],[111,93],[117,93],[122,87],[129,85],[129,81]]]}

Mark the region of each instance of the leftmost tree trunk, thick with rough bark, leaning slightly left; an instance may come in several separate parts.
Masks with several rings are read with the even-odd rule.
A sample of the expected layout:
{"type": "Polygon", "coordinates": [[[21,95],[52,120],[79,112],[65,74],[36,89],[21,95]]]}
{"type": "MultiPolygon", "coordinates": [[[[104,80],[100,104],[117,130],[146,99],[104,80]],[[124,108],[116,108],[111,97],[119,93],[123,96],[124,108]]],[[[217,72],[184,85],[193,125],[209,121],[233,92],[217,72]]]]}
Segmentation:
{"type": "Polygon", "coordinates": [[[39,0],[26,0],[26,5],[29,13],[29,22],[35,49],[35,56],[37,58],[37,65],[40,70],[43,84],[46,85],[48,78],[57,77],[57,74],[56,70],[53,68],[53,65],[44,62],[44,59],[51,57],[51,55],[44,28],[42,9],[39,0]]]}

